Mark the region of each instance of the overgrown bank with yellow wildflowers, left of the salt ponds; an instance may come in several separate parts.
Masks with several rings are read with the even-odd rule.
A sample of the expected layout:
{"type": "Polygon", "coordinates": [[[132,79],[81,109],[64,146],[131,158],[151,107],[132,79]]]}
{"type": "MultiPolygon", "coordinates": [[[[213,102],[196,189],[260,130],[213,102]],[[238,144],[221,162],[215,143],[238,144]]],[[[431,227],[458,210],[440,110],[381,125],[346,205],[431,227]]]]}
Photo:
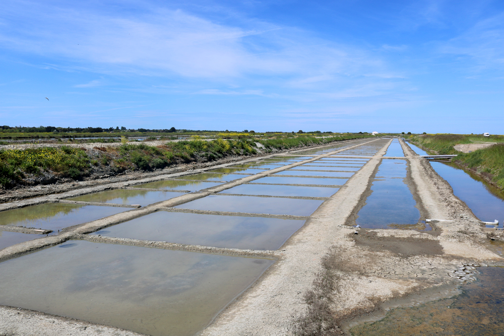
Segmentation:
{"type": "Polygon", "coordinates": [[[162,169],[179,163],[215,161],[226,156],[247,156],[296,147],[327,144],[334,141],[369,138],[369,135],[347,135],[317,138],[292,133],[219,133],[217,139],[166,142],[161,146],[129,143],[123,136],[119,146],[100,146],[92,150],[61,146],[26,150],[0,150],[0,185],[53,183],[58,178],[81,179],[95,171],[112,175],[126,170],[162,169]]]}

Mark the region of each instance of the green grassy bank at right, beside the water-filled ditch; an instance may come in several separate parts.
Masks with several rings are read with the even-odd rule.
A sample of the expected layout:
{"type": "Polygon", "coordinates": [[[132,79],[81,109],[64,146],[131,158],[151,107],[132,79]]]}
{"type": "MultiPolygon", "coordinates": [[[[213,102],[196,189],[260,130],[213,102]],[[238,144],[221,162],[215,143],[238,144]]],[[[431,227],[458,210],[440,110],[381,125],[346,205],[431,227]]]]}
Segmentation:
{"type": "Polygon", "coordinates": [[[483,137],[479,135],[436,134],[409,137],[411,143],[439,155],[457,154],[455,163],[484,175],[504,189],[504,136],[483,137]],[[455,150],[458,144],[496,143],[493,146],[471,153],[455,150]]]}

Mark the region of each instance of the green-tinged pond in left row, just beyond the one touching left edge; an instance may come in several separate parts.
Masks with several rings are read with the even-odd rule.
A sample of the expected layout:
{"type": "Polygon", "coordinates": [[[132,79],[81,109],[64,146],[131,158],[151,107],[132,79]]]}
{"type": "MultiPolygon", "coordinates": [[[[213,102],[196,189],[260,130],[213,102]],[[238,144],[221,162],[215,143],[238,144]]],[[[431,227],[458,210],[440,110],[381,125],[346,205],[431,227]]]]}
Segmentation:
{"type": "Polygon", "coordinates": [[[67,199],[98,203],[116,203],[130,205],[139,204],[142,207],[145,207],[149,204],[157,203],[173,197],[178,197],[183,194],[184,192],[115,189],[93,192],[86,195],[70,197],[67,199]]]}

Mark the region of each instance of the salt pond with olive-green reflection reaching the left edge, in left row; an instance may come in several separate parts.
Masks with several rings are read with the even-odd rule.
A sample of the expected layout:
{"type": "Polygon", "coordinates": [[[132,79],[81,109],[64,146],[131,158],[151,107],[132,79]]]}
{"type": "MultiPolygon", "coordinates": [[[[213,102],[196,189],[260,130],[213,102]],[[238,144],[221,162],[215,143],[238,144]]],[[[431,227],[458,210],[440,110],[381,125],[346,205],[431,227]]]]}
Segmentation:
{"type": "Polygon", "coordinates": [[[115,215],[129,208],[81,206],[75,204],[46,203],[0,212],[0,225],[14,225],[53,230],[91,222],[115,215]]]}

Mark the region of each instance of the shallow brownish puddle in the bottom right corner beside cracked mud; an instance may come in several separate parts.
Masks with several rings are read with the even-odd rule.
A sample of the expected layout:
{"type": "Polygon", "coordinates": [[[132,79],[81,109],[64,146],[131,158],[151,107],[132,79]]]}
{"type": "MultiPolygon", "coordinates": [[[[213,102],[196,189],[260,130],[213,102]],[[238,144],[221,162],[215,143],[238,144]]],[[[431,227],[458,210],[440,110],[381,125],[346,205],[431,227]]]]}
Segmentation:
{"type": "Polygon", "coordinates": [[[478,281],[461,286],[454,298],[395,308],[386,317],[350,329],[354,336],[502,335],[504,268],[478,267],[478,281]]]}

